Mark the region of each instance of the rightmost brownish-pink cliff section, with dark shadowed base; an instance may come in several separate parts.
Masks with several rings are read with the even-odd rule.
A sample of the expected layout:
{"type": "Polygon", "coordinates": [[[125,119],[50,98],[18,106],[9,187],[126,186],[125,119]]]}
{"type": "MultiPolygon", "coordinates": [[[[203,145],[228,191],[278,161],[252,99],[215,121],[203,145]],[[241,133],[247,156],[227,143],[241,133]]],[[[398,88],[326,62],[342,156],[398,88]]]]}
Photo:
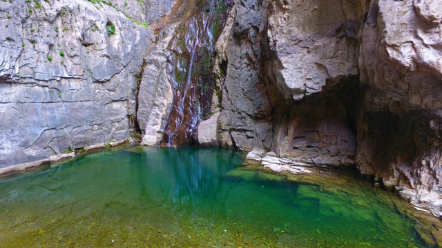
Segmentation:
{"type": "Polygon", "coordinates": [[[442,1],[372,1],[359,32],[357,165],[442,215],[442,1]]]}

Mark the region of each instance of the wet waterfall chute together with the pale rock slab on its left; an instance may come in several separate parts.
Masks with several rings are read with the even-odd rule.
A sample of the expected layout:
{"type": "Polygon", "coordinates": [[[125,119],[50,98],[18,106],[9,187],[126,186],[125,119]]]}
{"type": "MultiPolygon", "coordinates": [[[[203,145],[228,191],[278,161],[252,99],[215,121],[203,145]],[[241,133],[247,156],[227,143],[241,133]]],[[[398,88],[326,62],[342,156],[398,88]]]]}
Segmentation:
{"type": "Polygon", "coordinates": [[[144,145],[194,143],[211,112],[213,46],[228,10],[228,1],[180,2],[157,25],[160,41],[146,57],[137,112],[144,145]]]}

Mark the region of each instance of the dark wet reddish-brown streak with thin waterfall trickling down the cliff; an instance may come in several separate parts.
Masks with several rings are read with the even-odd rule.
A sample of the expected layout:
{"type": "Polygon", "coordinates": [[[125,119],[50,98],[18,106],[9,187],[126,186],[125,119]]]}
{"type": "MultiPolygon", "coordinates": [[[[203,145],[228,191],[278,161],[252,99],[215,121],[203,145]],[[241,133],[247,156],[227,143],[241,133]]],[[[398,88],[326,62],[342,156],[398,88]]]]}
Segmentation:
{"type": "Polygon", "coordinates": [[[198,123],[209,117],[214,45],[230,7],[228,0],[195,1],[169,43],[174,96],[162,145],[193,143],[198,123]]]}

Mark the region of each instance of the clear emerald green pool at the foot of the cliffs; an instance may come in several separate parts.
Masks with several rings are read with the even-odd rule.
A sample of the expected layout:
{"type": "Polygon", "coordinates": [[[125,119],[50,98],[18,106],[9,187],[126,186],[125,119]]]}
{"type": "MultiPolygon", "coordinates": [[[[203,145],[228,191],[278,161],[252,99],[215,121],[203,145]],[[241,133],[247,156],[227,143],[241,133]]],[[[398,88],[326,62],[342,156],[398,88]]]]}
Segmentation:
{"type": "Polygon", "coordinates": [[[126,147],[2,178],[0,247],[425,247],[365,183],[329,192],[242,155],[126,147]]]}

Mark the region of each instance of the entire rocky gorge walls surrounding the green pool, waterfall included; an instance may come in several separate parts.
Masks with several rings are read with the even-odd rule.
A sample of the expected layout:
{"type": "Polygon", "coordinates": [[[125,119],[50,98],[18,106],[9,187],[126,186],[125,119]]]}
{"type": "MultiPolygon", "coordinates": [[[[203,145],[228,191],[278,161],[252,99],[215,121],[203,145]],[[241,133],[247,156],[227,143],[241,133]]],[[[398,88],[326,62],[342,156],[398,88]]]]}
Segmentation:
{"type": "Polygon", "coordinates": [[[441,0],[13,0],[0,19],[2,173],[140,138],[357,168],[442,216],[441,0]]]}

